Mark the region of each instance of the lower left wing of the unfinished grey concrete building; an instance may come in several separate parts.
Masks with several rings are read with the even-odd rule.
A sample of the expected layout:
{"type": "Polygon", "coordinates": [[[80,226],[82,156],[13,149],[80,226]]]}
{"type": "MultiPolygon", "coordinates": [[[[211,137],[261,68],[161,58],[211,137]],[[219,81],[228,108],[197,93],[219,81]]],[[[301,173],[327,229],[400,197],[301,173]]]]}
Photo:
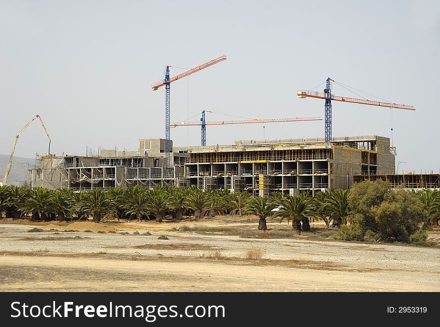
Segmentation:
{"type": "Polygon", "coordinates": [[[31,169],[31,186],[50,189],[68,187],[77,191],[134,185],[146,188],[155,185],[185,186],[183,163],[186,154],[173,153],[176,164],[167,167],[163,153],[162,156],[159,154],[160,140],[153,139],[148,143],[157,146],[149,148],[149,154],[153,156],[145,153],[145,147],[140,147],[137,151],[101,149],[99,156],[39,157],[31,169]]]}

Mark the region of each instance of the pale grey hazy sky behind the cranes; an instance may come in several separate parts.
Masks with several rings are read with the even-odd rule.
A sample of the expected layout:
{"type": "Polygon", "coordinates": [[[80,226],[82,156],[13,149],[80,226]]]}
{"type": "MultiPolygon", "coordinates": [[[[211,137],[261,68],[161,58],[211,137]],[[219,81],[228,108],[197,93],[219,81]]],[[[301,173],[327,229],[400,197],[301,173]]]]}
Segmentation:
{"type": "MultiPolygon", "coordinates": [[[[36,113],[56,154],[132,150],[138,138],[164,137],[164,89],[150,84],[166,64],[193,67],[223,54],[227,60],[171,84],[171,121],[198,120],[203,109],[323,117],[324,100],[299,99],[296,90],[330,76],[414,105],[392,110],[396,161],[407,161],[399,170],[439,171],[440,4],[420,0],[0,0],[0,153],[36,113]]],[[[337,84],[333,93],[357,97],[337,84]]],[[[388,108],[337,101],[332,108],[333,136],[390,136],[388,108]]],[[[266,139],[323,134],[323,121],[265,127],[266,139]]],[[[199,145],[200,128],[172,128],[171,138],[199,145]]],[[[207,144],[262,138],[261,124],[207,126],[207,144]]],[[[34,121],[15,154],[46,148],[34,121]]]]}

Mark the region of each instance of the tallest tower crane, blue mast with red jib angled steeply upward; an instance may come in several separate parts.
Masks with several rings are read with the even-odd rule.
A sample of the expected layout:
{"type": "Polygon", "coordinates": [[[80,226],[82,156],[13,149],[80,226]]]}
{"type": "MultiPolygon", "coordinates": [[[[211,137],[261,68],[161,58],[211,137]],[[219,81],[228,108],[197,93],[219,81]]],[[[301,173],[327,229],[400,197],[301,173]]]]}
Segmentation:
{"type": "Polygon", "coordinates": [[[172,83],[173,81],[176,81],[177,79],[186,77],[190,74],[193,74],[196,71],[199,71],[201,69],[204,69],[206,67],[209,67],[217,62],[223,61],[226,59],[225,55],[222,55],[218,58],[212,59],[208,62],[205,62],[197,67],[191,68],[187,71],[182,72],[181,74],[178,74],[174,77],[169,77],[169,67],[172,67],[170,65],[167,65],[165,67],[165,78],[160,81],[160,82],[156,82],[151,84],[151,89],[153,91],[157,90],[159,87],[161,86],[165,86],[165,156],[168,160],[168,166],[171,165],[170,162],[170,156],[169,156],[169,152],[170,152],[170,130],[169,130],[169,119],[170,119],[170,95],[169,95],[169,84],[172,83]]]}

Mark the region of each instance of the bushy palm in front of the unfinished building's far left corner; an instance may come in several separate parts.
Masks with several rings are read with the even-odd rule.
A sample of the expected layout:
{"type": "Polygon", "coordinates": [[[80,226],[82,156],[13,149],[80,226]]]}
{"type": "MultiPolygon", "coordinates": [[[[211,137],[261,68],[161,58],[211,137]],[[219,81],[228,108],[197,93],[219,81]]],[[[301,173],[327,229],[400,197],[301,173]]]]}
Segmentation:
{"type": "Polygon", "coordinates": [[[35,187],[24,201],[20,211],[32,212],[33,219],[46,219],[53,208],[53,191],[44,187],[35,187]]]}

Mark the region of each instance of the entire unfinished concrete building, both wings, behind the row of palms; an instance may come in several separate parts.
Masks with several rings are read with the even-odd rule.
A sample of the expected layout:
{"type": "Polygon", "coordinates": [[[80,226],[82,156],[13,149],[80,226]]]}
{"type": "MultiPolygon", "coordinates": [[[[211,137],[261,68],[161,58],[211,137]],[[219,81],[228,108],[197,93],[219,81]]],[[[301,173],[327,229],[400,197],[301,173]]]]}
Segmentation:
{"type": "Polygon", "coordinates": [[[394,155],[382,136],[236,141],[233,145],[175,147],[171,167],[164,139],[140,139],[137,151],[102,149],[99,156],[42,156],[31,170],[32,186],[142,185],[227,188],[267,194],[346,189],[353,175],[390,174],[394,155]]]}

